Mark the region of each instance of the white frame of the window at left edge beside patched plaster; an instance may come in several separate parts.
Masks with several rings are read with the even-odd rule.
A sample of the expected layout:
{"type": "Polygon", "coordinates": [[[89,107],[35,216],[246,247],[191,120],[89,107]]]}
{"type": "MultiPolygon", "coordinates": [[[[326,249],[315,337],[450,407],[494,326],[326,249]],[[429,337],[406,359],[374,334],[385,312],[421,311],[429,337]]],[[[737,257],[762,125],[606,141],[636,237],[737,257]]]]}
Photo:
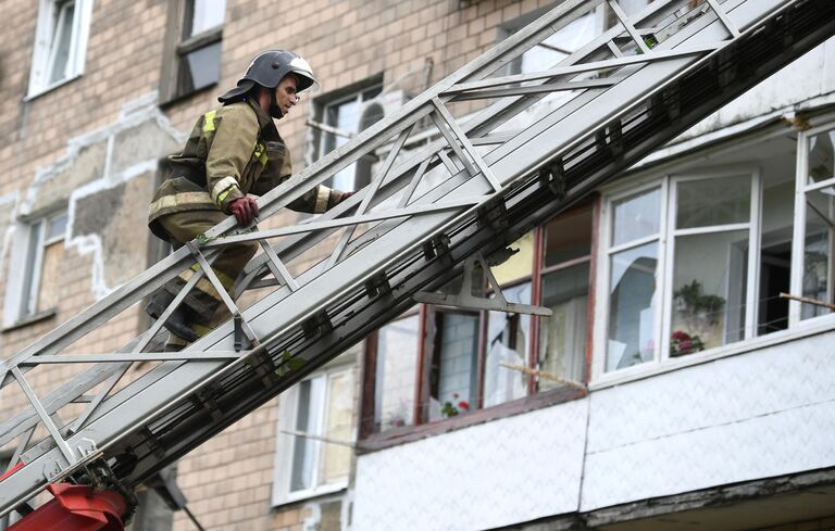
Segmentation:
{"type": "Polygon", "coordinates": [[[63,233],[48,238],[47,230],[52,222],[67,216],[65,211],[60,211],[34,218],[32,222],[23,223],[18,226],[14,242],[14,249],[18,251],[12,257],[12,267],[10,268],[7,282],[8,295],[3,312],[4,328],[25,323],[33,317],[37,317],[41,312],[53,309],[39,309],[37,307],[41,275],[43,274],[43,250],[53,243],[65,240],[68,219],[65,222],[66,227],[63,233]],[[36,242],[33,242],[33,233],[35,231],[38,233],[38,239],[36,242]],[[34,264],[28,264],[33,243],[38,248],[35,250],[34,264]],[[32,271],[32,278],[28,282],[26,281],[27,271],[32,271]]]}

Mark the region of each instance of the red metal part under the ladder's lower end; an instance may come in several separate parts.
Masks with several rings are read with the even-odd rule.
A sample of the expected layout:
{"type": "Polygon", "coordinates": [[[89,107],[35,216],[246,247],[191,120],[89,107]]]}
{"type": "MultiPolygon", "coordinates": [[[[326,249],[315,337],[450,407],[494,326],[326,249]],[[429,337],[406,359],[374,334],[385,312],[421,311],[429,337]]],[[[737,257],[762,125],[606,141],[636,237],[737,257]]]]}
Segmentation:
{"type": "Polygon", "coordinates": [[[11,526],[9,531],[124,531],[127,502],[113,491],[58,483],[47,486],[55,497],[11,526]]]}

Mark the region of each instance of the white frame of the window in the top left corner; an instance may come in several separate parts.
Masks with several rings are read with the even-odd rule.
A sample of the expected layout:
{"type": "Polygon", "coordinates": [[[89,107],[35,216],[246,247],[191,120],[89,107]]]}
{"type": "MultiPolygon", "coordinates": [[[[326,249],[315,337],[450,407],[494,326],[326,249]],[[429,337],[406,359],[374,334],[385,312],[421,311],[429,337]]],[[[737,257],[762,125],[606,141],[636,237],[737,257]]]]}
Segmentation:
{"type": "Polygon", "coordinates": [[[92,15],[92,0],[74,0],[74,2],[75,8],[72,36],[70,38],[70,52],[66,62],[66,75],[57,81],[49,83],[49,73],[54,61],[54,56],[51,53],[54,51],[52,49],[52,41],[57,38],[55,29],[59,27],[59,24],[55,24],[53,28],[52,21],[58,14],[59,4],[62,2],[61,0],[40,0],[27,99],[48,92],[84,74],[87,40],[89,38],[90,18],[92,15]]]}

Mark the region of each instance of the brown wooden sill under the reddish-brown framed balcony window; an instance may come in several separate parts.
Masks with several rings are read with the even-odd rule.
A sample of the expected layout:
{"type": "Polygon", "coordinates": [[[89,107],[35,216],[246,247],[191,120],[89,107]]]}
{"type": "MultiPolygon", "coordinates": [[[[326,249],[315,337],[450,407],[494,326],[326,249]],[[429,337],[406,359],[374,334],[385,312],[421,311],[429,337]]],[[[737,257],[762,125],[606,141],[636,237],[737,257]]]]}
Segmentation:
{"type": "Polygon", "coordinates": [[[562,387],[550,391],[525,396],[486,409],[478,409],[466,415],[460,415],[444,420],[437,420],[419,426],[395,428],[383,433],[374,433],[357,443],[357,454],[367,454],[378,450],[385,450],[400,444],[406,444],[429,437],[449,433],[471,426],[500,420],[523,413],[533,412],[543,407],[563,404],[577,399],[583,399],[588,392],[585,389],[562,387]]]}

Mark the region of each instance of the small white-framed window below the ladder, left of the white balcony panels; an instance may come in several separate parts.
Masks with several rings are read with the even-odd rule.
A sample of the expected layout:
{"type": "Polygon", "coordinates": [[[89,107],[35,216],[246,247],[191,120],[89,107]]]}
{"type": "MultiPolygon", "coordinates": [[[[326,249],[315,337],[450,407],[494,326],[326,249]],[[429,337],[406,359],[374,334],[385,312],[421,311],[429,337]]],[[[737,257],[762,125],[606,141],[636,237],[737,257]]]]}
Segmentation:
{"type": "Polygon", "coordinates": [[[354,380],[346,359],[339,358],[339,364],[282,396],[274,505],[336,492],[348,484],[354,380]]]}

